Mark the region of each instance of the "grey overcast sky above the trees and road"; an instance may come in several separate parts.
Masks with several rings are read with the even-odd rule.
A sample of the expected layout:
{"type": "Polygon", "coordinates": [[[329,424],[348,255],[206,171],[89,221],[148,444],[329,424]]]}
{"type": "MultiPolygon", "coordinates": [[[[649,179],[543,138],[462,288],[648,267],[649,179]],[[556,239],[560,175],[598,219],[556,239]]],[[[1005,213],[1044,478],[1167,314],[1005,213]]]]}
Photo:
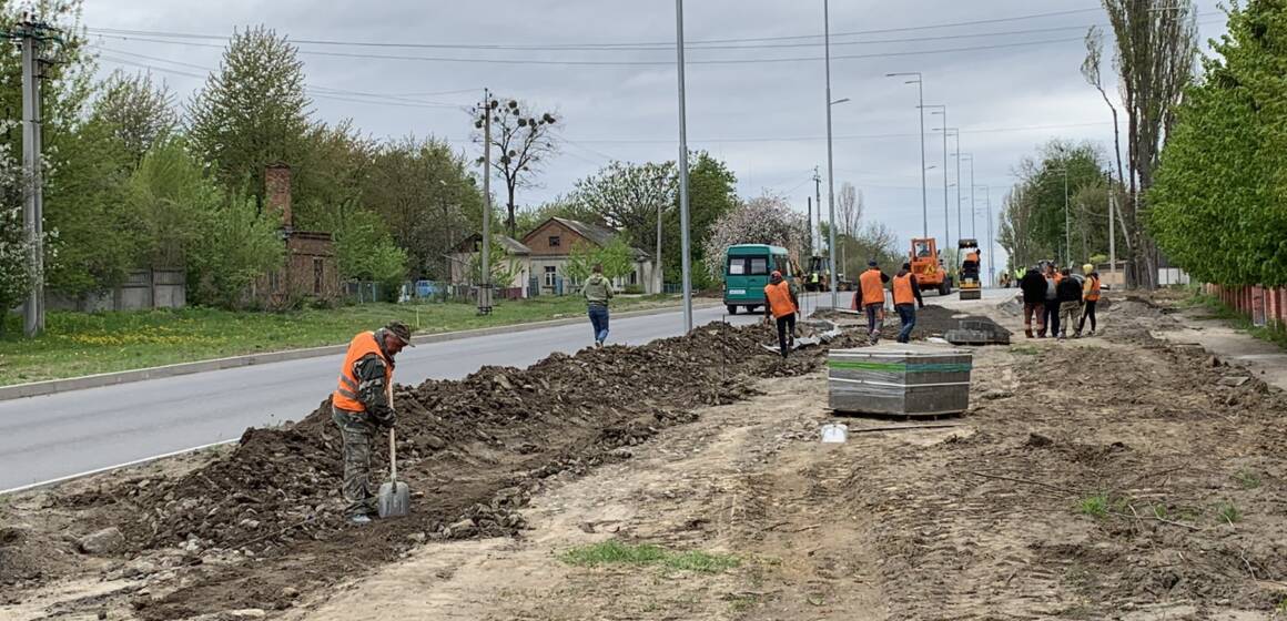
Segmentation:
{"type": "MultiPolygon", "coordinates": [[[[85,26],[102,54],[104,75],[116,68],[152,71],[184,102],[203,82],[196,76],[218,67],[224,42],[219,37],[234,27],[264,23],[297,41],[315,116],[324,121],[353,118],[377,138],[431,134],[472,154],[470,120],[462,107],[480,99],[484,86],[556,109],[566,143],[546,166],[541,186],[520,195],[523,206],[568,193],[577,179],[610,159],[677,156],[671,1],[85,4],[85,26]],[[606,49],[610,46],[624,49],[606,49]],[[372,55],[413,58],[360,58],[372,55]]],[[[961,130],[961,152],[974,156],[974,184],[991,188],[994,224],[1019,158],[1051,138],[1111,145],[1109,113],[1079,72],[1085,55],[1081,37],[1089,26],[1106,22],[1098,6],[1094,0],[833,1],[831,93],[833,99],[851,99],[833,108],[837,189],[843,181],[853,183],[865,195],[865,219],[889,225],[901,244],[919,235],[916,87],[884,77],[889,72],[921,72],[925,104],[949,105],[949,126],[961,130]]],[[[1203,41],[1224,32],[1224,15],[1214,1],[1202,0],[1199,10],[1203,41]]],[[[821,0],[690,0],[685,13],[690,148],[725,159],[736,172],[743,195],[767,189],[788,195],[802,212],[806,198],[813,194],[813,167],[819,166],[825,204],[821,0]],[[786,60],[709,63],[763,59],[786,60]]],[[[927,161],[936,166],[928,172],[929,233],[940,239],[943,144],[933,129],[941,125],[942,117],[927,114],[927,161]]],[[[949,150],[955,150],[955,144],[950,143],[949,150]]],[[[954,181],[956,165],[951,158],[949,170],[954,181]]],[[[967,197],[961,217],[970,233],[968,162],[961,172],[967,197]]],[[[949,194],[955,239],[956,189],[949,194]]],[[[976,192],[976,226],[986,244],[983,190],[976,192]]]]}

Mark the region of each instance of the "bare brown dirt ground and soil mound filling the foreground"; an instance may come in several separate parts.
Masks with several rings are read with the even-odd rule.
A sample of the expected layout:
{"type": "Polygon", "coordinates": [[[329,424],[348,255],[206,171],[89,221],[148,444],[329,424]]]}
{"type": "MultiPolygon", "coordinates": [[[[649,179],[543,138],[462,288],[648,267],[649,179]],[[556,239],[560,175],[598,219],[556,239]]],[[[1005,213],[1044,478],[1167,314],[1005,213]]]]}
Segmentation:
{"type": "MultiPolygon", "coordinates": [[[[416,417],[426,420],[408,429],[408,441],[423,450],[435,436],[447,447],[412,458],[422,460],[409,468],[422,477],[412,487],[441,489],[416,499],[416,519],[354,540],[354,531],[324,518],[269,537],[261,549],[230,545],[263,531],[238,526],[238,513],[198,535],[206,546],[199,554],[175,555],[175,544],[187,540],[175,521],[185,518],[162,510],[160,536],[148,536],[151,518],[122,522],[135,543],[122,561],[71,553],[27,577],[0,570],[12,584],[0,616],[94,618],[106,609],[109,618],[174,618],[279,608],[299,620],[1269,618],[1287,599],[1287,401],[1201,350],[1157,341],[1151,330],[1175,328],[1161,309],[1118,303],[1103,323],[1102,338],[1021,338],[976,350],[972,410],[940,423],[955,427],[861,432],[901,423],[852,419],[851,440],[839,446],[817,442],[829,414],[813,360],[784,366],[753,352],[767,334],[741,345],[710,336],[692,366],[680,354],[629,354],[642,357],[605,384],[633,386],[641,381],[634,369],[656,356],[695,374],[694,384],[721,386],[695,393],[653,382],[644,397],[651,402],[638,391],[586,390],[597,383],[571,374],[574,360],[550,363],[566,378],[550,391],[570,401],[550,411],[525,405],[533,414],[523,419],[493,414],[517,411],[519,402],[486,399],[516,395],[528,404],[523,387],[543,392],[539,379],[551,377],[539,366],[488,370],[474,384],[426,384],[405,395],[425,408],[416,417]],[[716,357],[739,379],[698,370],[716,357]],[[514,392],[497,386],[497,373],[514,392]],[[598,399],[604,393],[611,396],[598,399]],[[470,410],[467,424],[427,423],[463,402],[485,406],[470,410]],[[718,405],[692,410],[703,402],[718,405]],[[470,437],[480,429],[488,437],[470,437]],[[497,498],[493,509],[486,499],[497,498]],[[474,518],[472,532],[444,530],[462,516],[474,518]],[[493,532],[506,536],[476,539],[493,532]],[[740,566],[694,573],[586,568],[559,558],[604,540],[730,554],[740,566]],[[220,546],[248,548],[264,561],[210,552],[220,546]],[[157,567],[126,577],[139,558],[157,567]],[[175,570],[165,567],[170,558],[206,561],[175,570]],[[95,588],[107,594],[94,595],[95,588]]],[[[309,483],[308,476],[319,477],[320,486],[287,487],[288,498],[311,503],[311,490],[333,489],[335,464],[299,460],[304,451],[332,450],[309,444],[324,429],[309,420],[297,427],[301,453],[291,471],[306,472],[309,483]]],[[[283,432],[268,438],[275,447],[295,441],[283,432]]],[[[254,436],[239,453],[257,450],[247,446],[256,446],[254,436]]],[[[22,499],[5,509],[5,523],[55,526],[0,537],[0,561],[30,561],[30,544],[58,541],[57,525],[72,517],[121,519],[113,512],[122,505],[165,508],[172,492],[176,505],[183,498],[223,500],[196,481],[237,459],[149,476],[134,496],[129,490],[144,478],[22,499]]],[[[255,472],[257,463],[242,462],[228,476],[273,480],[255,472]]],[[[297,504],[270,503],[269,510],[297,504]]],[[[66,548],[62,541],[55,549],[66,548]]]]}

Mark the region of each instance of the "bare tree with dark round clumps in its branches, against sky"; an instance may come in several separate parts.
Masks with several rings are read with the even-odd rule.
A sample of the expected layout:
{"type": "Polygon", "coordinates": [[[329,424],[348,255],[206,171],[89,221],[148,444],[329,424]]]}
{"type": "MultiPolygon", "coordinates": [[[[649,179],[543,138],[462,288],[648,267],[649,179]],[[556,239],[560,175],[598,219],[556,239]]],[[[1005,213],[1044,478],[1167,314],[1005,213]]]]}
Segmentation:
{"type": "MultiPolygon", "coordinates": [[[[519,188],[534,185],[533,177],[541,171],[541,165],[559,153],[556,118],[552,112],[535,113],[530,105],[517,99],[497,99],[492,104],[492,147],[499,156],[492,161],[492,168],[505,177],[506,229],[511,238],[517,238],[517,204],[515,193],[519,188]]],[[[483,144],[483,118],[474,120],[474,143],[483,144]]],[[[483,163],[483,158],[477,159],[483,163]]]]}

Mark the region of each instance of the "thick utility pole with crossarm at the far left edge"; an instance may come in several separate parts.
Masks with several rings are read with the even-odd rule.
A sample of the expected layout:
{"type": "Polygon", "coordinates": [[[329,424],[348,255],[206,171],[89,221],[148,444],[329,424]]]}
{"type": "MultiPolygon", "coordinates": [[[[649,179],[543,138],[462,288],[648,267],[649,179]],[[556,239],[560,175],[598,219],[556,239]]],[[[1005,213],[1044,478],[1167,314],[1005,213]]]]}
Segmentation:
{"type": "Polygon", "coordinates": [[[24,21],[14,35],[22,41],[22,165],[28,183],[22,220],[31,246],[31,293],[23,305],[23,334],[35,337],[45,329],[45,197],[41,171],[42,120],[40,81],[44,78],[40,51],[53,28],[24,21]]]}

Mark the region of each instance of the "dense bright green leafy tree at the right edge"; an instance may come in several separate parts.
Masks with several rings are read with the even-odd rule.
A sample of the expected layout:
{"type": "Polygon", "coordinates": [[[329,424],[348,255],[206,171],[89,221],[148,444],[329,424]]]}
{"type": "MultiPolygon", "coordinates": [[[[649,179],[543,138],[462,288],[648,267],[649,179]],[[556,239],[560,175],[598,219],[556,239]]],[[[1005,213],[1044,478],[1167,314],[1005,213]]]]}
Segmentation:
{"type": "Polygon", "coordinates": [[[1234,5],[1176,111],[1148,193],[1149,230],[1196,279],[1287,284],[1284,27],[1283,3],[1234,5]]]}

